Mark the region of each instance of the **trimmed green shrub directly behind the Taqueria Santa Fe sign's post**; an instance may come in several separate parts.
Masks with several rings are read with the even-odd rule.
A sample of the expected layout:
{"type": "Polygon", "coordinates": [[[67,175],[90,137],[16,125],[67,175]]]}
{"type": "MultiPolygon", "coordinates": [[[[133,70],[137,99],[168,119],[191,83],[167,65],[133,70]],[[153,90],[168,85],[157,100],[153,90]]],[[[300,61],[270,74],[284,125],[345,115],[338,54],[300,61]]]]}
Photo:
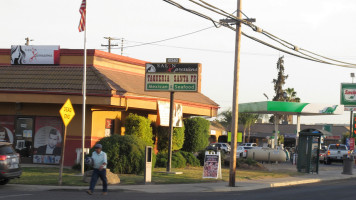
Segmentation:
{"type": "MultiPolygon", "coordinates": [[[[169,127],[158,127],[158,151],[168,151],[169,127]]],[[[180,150],[184,144],[184,126],[173,129],[172,151],[180,150]]]]}

